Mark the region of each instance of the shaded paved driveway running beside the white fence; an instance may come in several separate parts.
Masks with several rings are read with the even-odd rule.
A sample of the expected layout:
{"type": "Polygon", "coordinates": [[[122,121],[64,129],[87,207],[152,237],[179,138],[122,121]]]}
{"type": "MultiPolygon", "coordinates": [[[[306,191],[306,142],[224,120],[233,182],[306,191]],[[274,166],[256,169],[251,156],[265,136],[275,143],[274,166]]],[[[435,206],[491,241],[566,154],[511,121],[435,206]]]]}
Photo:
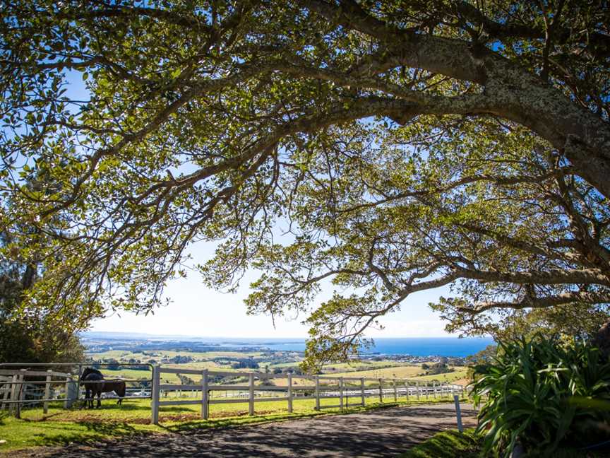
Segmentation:
{"type": "MultiPolygon", "coordinates": [[[[465,427],[475,412],[462,406],[465,427]]],[[[71,445],[45,457],[396,457],[438,431],[456,428],[453,404],[389,407],[364,413],[71,445]]],[[[37,456],[32,453],[30,456],[37,456]]]]}

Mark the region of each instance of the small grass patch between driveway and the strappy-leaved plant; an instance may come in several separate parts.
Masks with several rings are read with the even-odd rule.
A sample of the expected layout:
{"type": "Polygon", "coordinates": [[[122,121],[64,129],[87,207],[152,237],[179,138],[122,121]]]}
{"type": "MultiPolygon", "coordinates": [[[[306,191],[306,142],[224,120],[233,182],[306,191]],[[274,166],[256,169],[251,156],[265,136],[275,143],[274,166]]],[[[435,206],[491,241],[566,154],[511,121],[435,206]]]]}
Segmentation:
{"type": "Polygon", "coordinates": [[[476,458],[480,457],[482,438],[473,429],[436,433],[410,448],[401,458],[476,458]]]}

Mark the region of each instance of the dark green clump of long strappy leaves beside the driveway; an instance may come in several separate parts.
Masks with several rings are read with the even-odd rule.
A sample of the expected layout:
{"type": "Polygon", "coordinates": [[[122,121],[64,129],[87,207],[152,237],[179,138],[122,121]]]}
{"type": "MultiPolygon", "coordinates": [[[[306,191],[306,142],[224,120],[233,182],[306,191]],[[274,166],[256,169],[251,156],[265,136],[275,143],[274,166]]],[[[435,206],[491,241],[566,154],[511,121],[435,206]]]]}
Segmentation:
{"type": "Polygon", "coordinates": [[[508,457],[521,442],[542,457],[608,439],[610,362],[587,341],[501,341],[493,362],[477,367],[472,392],[488,454],[508,457]]]}

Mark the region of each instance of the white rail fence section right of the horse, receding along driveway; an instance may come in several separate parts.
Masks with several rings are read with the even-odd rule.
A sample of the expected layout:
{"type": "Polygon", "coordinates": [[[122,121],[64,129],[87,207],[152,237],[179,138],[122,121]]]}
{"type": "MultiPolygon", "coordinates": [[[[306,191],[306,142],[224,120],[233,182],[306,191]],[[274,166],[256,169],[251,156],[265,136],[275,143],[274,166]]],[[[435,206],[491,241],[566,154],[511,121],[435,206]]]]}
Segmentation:
{"type": "Polygon", "coordinates": [[[164,368],[156,365],[152,372],[152,423],[159,423],[159,408],[162,406],[184,406],[201,404],[201,418],[209,416],[210,404],[248,403],[249,414],[254,415],[256,402],[284,401],[287,402],[289,413],[292,413],[294,399],[315,399],[316,410],[339,408],[347,406],[364,406],[366,397],[378,397],[383,402],[384,397],[390,395],[396,401],[399,396],[415,400],[421,397],[436,398],[437,396],[453,396],[463,394],[464,388],[456,384],[437,384],[437,382],[420,382],[407,379],[387,379],[370,377],[333,377],[330,375],[292,375],[267,374],[262,372],[222,372],[215,370],[197,370],[186,368],[164,368]],[[201,381],[197,384],[162,384],[162,374],[200,375],[201,381]],[[216,377],[245,377],[248,384],[213,384],[210,379],[216,377]],[[273,386],[264,384],[265,380],[287,379],[286,386],[273,386]],[[294,384],[294,379],[308,380],[309,385],[294,384]],[[257,384],[258,382],[258,384],[257,384]],[[162,401],[162,392],[191,391],[201,392],[200,399],[171,399],[162,401]],[[210,395],[214,391],[236,392],[239,396],[233,399],[218,399],[210,395]],[[278,393],[285,396],[269,395],[257,397],[256,393],[278,393]],[[351,404],[350,398],[359,398],[359,402],[351,404]],[[338,404],[321,405],[321,399],[337,399],[338,404]]]}

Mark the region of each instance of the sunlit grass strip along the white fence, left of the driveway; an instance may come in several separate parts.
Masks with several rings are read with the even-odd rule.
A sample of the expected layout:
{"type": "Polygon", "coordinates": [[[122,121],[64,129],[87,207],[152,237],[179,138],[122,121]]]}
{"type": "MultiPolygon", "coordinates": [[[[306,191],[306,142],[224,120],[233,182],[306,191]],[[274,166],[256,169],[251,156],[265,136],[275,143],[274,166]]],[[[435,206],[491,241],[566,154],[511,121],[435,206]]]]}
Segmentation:
{"type": "MultiPolygon", "coordinates": [[[[355,403],[359,399],[352,399],[355,403]]],[[[449,399],[431,399],[448,402],[449,399]]],[[[321,404],[338,404],[337,399],[321,399],[321,404]]],[[[387,399],[383,406],[417,404],[412,398],[399,398],[395,403],[387,399]]],[[[160,408],[160,425],[150,424],[150,400],[131,399],[119,407],[114,401],[102,401],[102,409],[64,410],[61,404],[49,406],[49,413],[42,409],[24,409],[22,419],[12,417],[0,420],[0,452],[10,452],[26,447],[68,445],[71,442],[95,442],[108,438],[150,433],[180,433],[200,428],[223,428],[249,423],[285,421],[309,416],[340,413],[340,409],[315,411],[314,399],[295,399],[293,413],[288,413],[286,401],[261,401],[255,404],[255,416],[248,416],[248,404],[212,404],[210,418],[202,420],[199,406],[165,406],[160,408]]],[[[366,406],[349,407],[345,411],[357,412],[382,406],[376,398],[367,398],[366,406]]]]}

